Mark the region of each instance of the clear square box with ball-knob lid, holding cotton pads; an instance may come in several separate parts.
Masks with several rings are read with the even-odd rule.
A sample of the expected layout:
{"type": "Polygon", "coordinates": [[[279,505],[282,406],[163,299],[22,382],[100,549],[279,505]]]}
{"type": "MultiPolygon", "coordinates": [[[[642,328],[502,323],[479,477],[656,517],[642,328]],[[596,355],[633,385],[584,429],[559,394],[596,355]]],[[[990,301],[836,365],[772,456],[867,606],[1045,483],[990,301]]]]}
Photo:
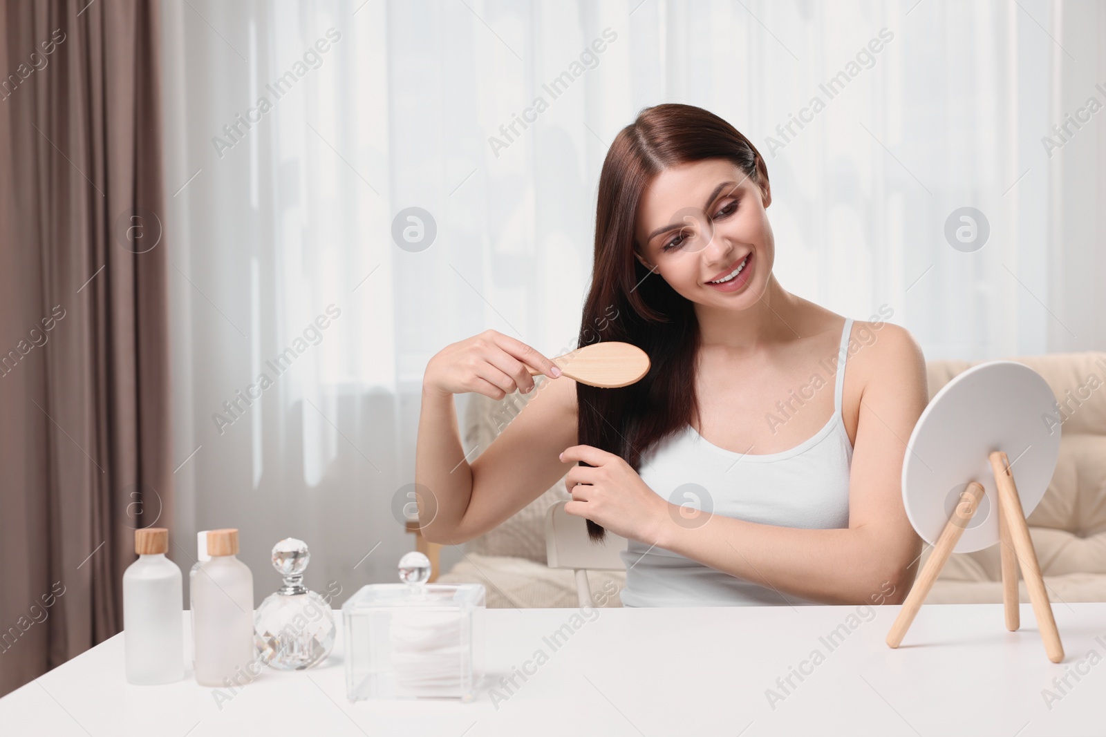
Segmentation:
{"type": "Polygon", "coordinates": [[[407,582],[369,583],[342,604],[346,695],[472,701],[483,672],[484,587],[426,583],[430,561],[420,552],[404,556],[399,570],[407,582]]]}

